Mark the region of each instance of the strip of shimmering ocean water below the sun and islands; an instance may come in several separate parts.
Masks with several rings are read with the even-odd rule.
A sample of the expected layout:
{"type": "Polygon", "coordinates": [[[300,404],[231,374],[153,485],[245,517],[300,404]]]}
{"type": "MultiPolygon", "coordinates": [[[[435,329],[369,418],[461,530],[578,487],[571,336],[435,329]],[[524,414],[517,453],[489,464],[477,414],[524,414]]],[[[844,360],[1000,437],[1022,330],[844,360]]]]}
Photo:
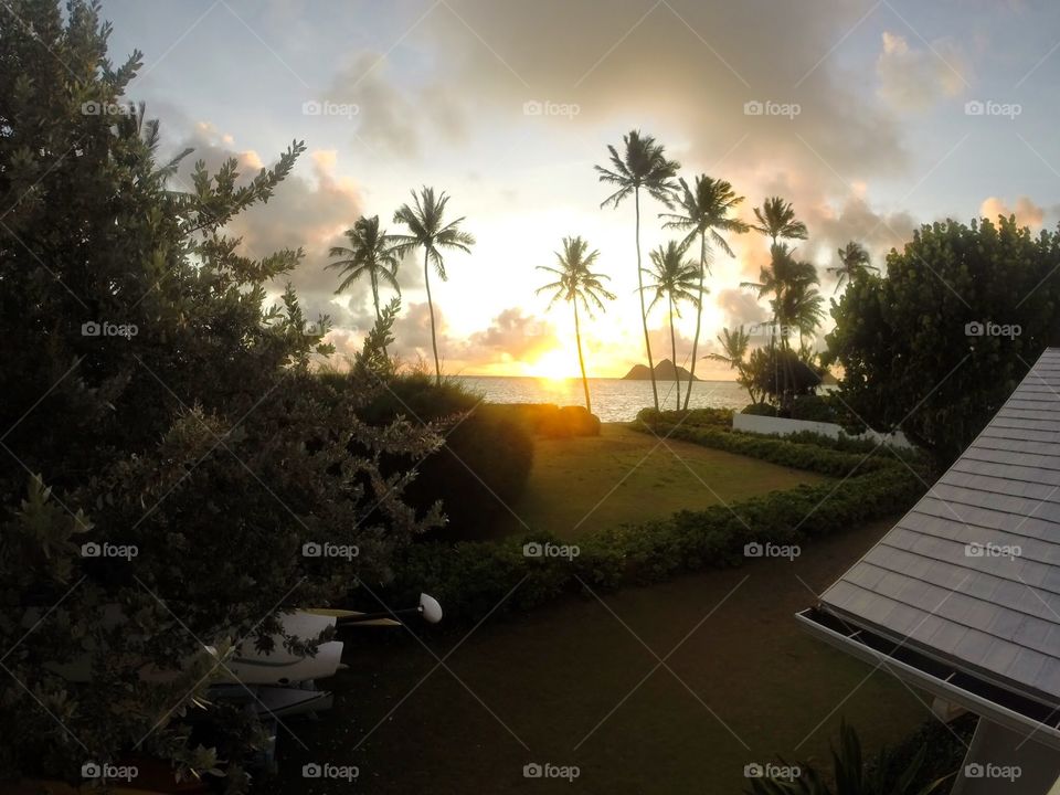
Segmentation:
{"type": "MultiPolygon", "coordinates": [[[[556,403],[558,405],[585,405],[581,379],[540,379],[502,377],[457,377],[468,389],[492,403],[556,403]]],[[[674,381],[658,381],[659,402],[664,409],[677,407],[674,381]]],[[[681,381],[683,401],[688,382],[681,381]]],[[[622,379],[590,379],[590,395],[593,414],[603,422],[628,422],[637,412],[651,405],[650,381],[624,381],[622,379]]],[[[751,399],[746,391],[733,381],[697,381],[692,384],[690,409],[742,409],[751,399]]]]}

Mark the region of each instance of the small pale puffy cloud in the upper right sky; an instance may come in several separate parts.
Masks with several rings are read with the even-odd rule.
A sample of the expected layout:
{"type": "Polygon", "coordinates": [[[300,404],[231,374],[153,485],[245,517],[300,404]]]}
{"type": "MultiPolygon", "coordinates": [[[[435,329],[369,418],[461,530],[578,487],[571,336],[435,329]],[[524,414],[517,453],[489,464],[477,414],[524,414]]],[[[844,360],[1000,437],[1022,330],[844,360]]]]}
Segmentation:
{"type": "Polygon", "coordinates": [[[925,110],[940,99],[957,96],[966,85],[965,59],[945,40],[922,50],[904,36],[883,32],[883,50],[876,61],[880,97],[895,110],[925,110]]]}

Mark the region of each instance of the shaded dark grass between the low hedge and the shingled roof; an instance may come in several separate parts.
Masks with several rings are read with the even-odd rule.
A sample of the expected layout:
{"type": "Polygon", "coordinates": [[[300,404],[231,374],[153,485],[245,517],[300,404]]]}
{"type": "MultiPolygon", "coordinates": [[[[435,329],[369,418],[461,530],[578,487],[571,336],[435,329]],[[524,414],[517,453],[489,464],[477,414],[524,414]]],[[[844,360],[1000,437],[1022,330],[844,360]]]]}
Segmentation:
{"type": "Polygon", "coordinates": [[[841,716],[869,750],[898,742],[929,719],[924,704],[793,618],[889,527],[852,529],[794,562],[486,622],[465,640],[427,639],[433,654],[401,629],[362,630],[347,645],[350,669],[328,682],[335,711],[292,724],[284,778],[266,789],[347,792],[300,778],[317,761],[358,765],[357,787],[384,795],[734,794],[751,761],[826,759],[841,716]],[[581,775],[526,780],[529,762],[579,765],[581,775]]]}

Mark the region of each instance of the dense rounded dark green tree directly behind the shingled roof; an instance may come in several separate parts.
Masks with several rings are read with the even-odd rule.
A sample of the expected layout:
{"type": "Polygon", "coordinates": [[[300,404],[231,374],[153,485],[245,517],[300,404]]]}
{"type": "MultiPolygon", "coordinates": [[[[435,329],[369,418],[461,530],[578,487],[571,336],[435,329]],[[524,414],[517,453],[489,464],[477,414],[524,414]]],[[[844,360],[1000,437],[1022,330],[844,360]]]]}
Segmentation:
{"type": "Polygon", "coordinates": [[[1058,267],[1060,234],[1014,218],[924,225],[833,303],[823,363],[873,430],[948,465],[1060,340],[1058,267]]]}

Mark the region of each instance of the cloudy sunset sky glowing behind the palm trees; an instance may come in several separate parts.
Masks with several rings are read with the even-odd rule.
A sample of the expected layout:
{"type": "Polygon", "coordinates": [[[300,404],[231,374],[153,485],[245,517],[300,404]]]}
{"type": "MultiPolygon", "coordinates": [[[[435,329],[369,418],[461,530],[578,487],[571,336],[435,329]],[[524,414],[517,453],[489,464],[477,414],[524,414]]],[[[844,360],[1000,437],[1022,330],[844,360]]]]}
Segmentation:
{"type": "MultiPolygon", "coordinates": [[[[477,240],[446,255],[447,282],[432,274],[447,372],[577,374],[570,306],[536,295],[536,266],[566,235],[600,251],[617,295],[583,322],[590,375],[645,361],[634,209],[601,209],[610,191],[593,170],[630,129],[690,182],[731,182],[744,220],[766,197],[793,202],[809,230],[797,253],[828,296],[825,269],[849,240],[883,265],[923,223],[1060,220],[1060,3],[1048,0],[104,0],[103,13],[113,61],[144,53],[128,98],[161,120],[165,150],[195,149],[180,178],[229,157],[253,176],[306,142],[276,197],[231,231],[251,255],[305,250],[290,280],[314,318],[331,317],[340,353],[373,310],[367,284],[335,295],[329,247],[362,214],[402,231],[394,210],[433,186],[477,240]]],[[[665,210],[644,202],[645,259],[677,234],[665,210]]],[[[735,257],[713,253],[703,352],[722,328],[766,317],[740,283],[767,244],[729,242],[735,257]]],[[[422,259],[399,282],[392,352],[430,358],[422,259]]],[[[691,307],[677,324],[687,364],[691,307]]],[[[650,326],[668,357],[661,305],[650,326]]],[[[698,374],[731,378],[709,361],[698,374]]]]}

